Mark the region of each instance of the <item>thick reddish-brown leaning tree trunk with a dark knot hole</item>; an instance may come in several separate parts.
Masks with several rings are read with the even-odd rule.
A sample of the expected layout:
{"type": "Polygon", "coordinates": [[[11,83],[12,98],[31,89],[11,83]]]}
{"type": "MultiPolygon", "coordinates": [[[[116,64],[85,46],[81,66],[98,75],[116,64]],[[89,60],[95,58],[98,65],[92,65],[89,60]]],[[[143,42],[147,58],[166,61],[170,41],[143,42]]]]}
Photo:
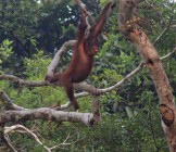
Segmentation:
{"type": "Polygon", "coordinates": [[[134,21],[136,4],[136,0],[120,1],[120,30],[135,45],[137,51],[143,59],[143,63],[150,71],[159,96],[162,127],[168,141],[169,151],[176,152],[176,109],[168,78],[154,46],[148,36],[138,28],[138,23],[131,24],[130,26],[126,25],[126,23],[130,23],[130,20],[134,21]]]}

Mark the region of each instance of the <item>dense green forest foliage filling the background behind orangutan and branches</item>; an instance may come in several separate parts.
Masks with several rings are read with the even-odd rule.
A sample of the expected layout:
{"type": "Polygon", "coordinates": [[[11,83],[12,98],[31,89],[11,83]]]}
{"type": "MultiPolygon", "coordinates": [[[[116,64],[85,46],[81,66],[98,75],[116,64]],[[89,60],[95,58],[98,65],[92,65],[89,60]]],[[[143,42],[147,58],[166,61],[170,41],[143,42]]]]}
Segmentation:
{"type": "MultiPolygon", "coordinates": [[[[75,37],[75,26],[79,18],[78,8],[70,0],[0,0],[0,67],[3,73],[14,74],[25,79],[43,80],[51,54],[68,39],[75,37]],[[8,40],[9,39],[9,40],[8,40]],[[17,59],[17,60],[16,60],[17,59]]],[[[85,1],[98,15],[106,2],[85,1]],[[98,5],[96,5],[98,4],[98,5]]],[[[176,43],[174,9],[168,0],[153,0],[139,4],[143,20],[142,29],[154,41],[160,34],[171,27],[156,41],[160,55],[172,51],[176,43]],[[172,21],[172,22],[171,22],[172,21]],[[171,23],[169,23],[171,22],[171,23]]],[[[106,40],[100,40],[100,53],[96,56],[96,66],[88,83],[97,88],[106,88],[135,69],[141,62],[134,46],[117,30],[117,10],[108,20],[104,30],[106,40]]],[[[70,55],[64,56],[67,62],[70,55]]],[[[61,66],[63,65],[61,63],[61,66]]],[[[175,56],[163,61],[176,94],[175,56]]],[[[10,98],[24,107],[54,106],[66,102],[62,88],[27,88],[14,83],[0,81],[10,98]]],[[[80,112],[89,112],[91,97],[78,99],[80,112]]],[[[143,68],[121,88],[101,97],[103,121],[95,127],[85,127],[68,122],[26,122],[24,125],[34,130],[48,147],[66,141],[54,151],[96,151],[96,152],[149,152],[167,151],[167,144],[160,124],[158,96],[143,68]]],[[[9,123],[8,125],[13,125],[9,123]]],[[[35,140],[26,134],[10,136],[18,151],[42,151],[35,140]]]]}

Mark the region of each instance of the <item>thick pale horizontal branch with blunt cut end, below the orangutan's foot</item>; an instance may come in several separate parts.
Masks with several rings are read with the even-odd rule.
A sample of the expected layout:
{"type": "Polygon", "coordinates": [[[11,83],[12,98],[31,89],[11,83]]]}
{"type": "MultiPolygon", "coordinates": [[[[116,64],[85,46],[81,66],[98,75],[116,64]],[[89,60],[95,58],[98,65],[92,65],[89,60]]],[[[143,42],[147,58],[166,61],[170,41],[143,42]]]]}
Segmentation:
{"type": "Polygon", "coordinates": [[[55,111],[49,107],[25,111],[4,111],[0,113],[0,124],[5,124],[7,122],[25,122],[32,119],[80,122],[87,126],[90,126],[91,121],[93,119],[93,115],[91,113],[55,111]]]}

